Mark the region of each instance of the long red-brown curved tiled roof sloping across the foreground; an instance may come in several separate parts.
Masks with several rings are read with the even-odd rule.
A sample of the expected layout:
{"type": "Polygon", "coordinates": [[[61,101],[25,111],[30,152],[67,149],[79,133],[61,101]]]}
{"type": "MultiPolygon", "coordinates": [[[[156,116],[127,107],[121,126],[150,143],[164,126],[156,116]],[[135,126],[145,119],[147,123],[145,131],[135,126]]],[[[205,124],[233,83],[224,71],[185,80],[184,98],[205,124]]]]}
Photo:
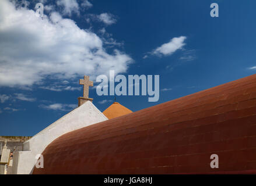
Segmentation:
{"type": "Polygon", "coordinates": [[[256,76],[64,134],[43,156],[34,174],[255,173],[256,76]]]}

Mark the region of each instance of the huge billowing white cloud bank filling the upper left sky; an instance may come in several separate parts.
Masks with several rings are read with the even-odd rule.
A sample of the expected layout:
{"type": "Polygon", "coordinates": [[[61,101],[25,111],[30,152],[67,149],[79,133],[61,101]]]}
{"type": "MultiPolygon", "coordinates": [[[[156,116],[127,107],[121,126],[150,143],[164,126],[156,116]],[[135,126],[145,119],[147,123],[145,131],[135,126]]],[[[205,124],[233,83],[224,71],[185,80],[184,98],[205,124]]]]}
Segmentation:
{"type": "Polygon", "coordinates": [[[50,18],[34,10],[15,8],[0,1],[0,86],[30,86],[44,78],[68,79],[85,74],[96,78],[114,69],[124,73],[130,56],[113,49],[107,53],[103,41],[79,28],[57,12],[50,18]]]}

